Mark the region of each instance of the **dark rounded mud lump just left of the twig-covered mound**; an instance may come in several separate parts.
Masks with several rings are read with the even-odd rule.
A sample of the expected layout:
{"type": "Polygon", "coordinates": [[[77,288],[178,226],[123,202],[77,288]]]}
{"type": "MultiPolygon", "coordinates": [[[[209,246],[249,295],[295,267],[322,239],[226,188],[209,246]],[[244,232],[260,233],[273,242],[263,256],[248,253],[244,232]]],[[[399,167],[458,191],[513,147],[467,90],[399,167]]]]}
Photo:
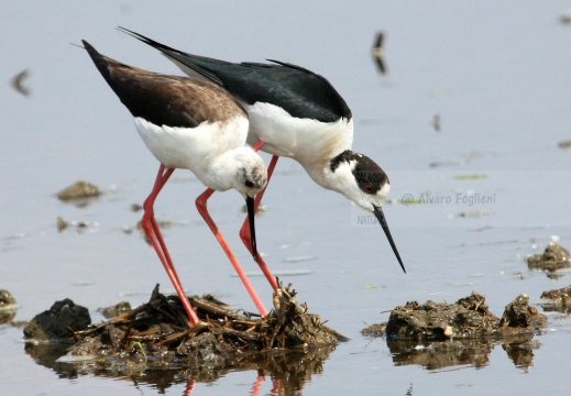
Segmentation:
{"type": "Polygon", "coordinates": [[[36,315],[24,328],[24,337],[36,342],[69,341],[74,331],[86,329],[90,323],[88,309],[66,298],[36,315]]]}

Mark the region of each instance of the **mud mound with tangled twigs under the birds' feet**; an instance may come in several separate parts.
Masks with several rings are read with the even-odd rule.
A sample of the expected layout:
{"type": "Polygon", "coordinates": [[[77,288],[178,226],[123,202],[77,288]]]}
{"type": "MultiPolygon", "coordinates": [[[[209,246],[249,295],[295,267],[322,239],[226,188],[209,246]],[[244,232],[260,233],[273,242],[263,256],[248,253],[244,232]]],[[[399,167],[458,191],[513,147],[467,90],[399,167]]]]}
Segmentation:
{"type": "Polygon", "coordinates": [[[155,288],[147,304],[76,331],[78,341],[69,356],[119,358],[161,367],[176,360],[185,362],[185,366],[211,369],[232,365],[249,354],[308,351],[344,339],[323,326],[317,315],[308,314],[307,306],[299,306],[294,297],[294,290],[279,288],[274,294],[275,309],[266,318],[232,311],[212,296],[189,297],[200,319],[189,328],[178,297],[165,297],[155,288]]]}

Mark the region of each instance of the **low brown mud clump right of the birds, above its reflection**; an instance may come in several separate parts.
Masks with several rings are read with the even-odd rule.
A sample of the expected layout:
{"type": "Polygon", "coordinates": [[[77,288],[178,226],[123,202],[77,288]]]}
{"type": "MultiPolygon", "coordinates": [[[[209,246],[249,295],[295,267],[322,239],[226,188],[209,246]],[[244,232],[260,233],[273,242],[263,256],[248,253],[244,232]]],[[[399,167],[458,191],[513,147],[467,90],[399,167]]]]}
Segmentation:
{"type": "MultiPolygon", "coordinates": [[[[521,334],[532,338],[546,322],[546,316],[530,307],[525,295],[509,302],[498,318],[485,305],[484,296],[472,293],[454,304],[429,300],[396,307],[385,332],[388,338],[398,340],[505,339],[521,334]]],[[[371,334],[371,330],[365,329],[363,333],[371,334]]]]}

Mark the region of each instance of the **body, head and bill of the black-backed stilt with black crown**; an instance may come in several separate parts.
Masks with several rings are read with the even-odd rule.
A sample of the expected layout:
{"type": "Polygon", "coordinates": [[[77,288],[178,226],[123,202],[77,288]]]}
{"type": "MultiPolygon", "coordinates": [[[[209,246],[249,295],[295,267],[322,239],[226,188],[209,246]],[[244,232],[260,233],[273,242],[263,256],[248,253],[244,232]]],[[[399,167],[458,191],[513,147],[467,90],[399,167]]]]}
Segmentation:
{"type": "Polygon", "coordinates": [[[374,213],[405,271],[382,210],[388,177],[374,161],[351,151],[351,110],[325,77],[277,61],[230,63],[193,55],[119,29],[161,51],[187,75],[228,89],[250,117],[248,143],[274,155],[270,176],[278,156],[294,158],[318,185],[374,213]]]}

